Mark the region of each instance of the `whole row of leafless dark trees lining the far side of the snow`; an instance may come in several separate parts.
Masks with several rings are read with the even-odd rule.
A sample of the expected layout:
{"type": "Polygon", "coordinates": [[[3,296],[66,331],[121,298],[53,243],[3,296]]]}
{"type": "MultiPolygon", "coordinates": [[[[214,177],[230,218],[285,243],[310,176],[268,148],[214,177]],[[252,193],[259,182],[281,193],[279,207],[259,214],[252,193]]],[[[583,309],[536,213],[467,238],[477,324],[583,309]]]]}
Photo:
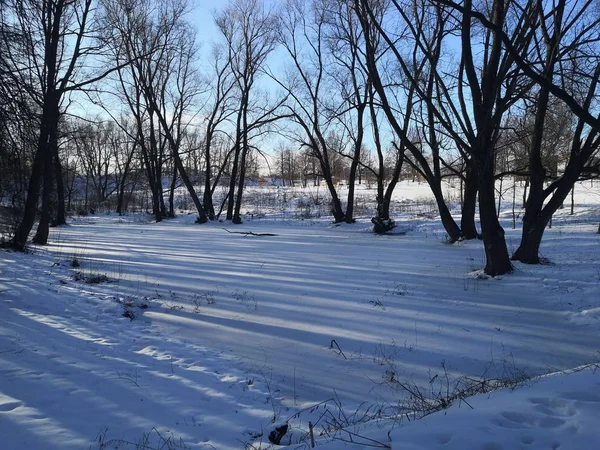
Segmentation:
{"type": "Polygon", "coordinates": [[[511,259],[539,263],[552,215],[599,174],[594,0],[232,0],[203,58],[189,10],[2,2],[0,200],[18,218],[14,248],[36,217],[34,242],[45,243],[73,209],[147,206],[161,221],[180,188],[198,222],[241,223],[263,158],[284,184],[324,183],[335,222],[354,221],[356,186],[369,180],[380,231],[410,170],[449,241],[481,238],[495,276],[511,259]],[[267,137],[281,142],[270,156],[267,137]],[[496,203],[506,177],[526,186],[513,255],[496,203]]]}

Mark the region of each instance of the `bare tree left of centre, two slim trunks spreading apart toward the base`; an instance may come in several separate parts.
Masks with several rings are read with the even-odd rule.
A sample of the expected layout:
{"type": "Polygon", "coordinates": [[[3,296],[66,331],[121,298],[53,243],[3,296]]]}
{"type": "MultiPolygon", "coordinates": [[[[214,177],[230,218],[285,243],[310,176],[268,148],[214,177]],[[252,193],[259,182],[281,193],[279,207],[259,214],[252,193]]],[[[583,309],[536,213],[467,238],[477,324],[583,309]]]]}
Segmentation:
{"type": "Polygon", "coordinates": [[[198,222],[204,223],[206,211],[180,154],[181,141],[190,121],[187,114],[200,92],[194,68],[195,38],[184,20],[187,3],[184,0],[156,3],[128,0],[109,5],[114,55],[119,66],[130,62],[127,73],[119,71],[120,83],[138,122],[138,138],[152,188],[156,220],[166,214],[161,176],[165,159],[159,141],[162,137],[174,168],[196,206],[198,222]]]}

